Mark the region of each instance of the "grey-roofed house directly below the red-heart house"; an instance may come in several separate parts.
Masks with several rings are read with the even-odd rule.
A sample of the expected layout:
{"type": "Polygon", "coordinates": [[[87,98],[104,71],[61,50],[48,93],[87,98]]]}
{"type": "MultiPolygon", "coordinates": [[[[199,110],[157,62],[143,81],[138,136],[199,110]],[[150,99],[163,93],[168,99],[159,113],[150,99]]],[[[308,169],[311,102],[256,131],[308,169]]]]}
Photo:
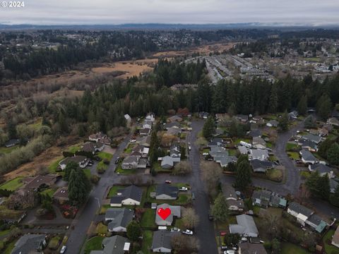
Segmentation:
{"type": "Polygon", "coordinates": [[[180,235],[179,232],[158,230],[153,232],[152,250],[153,253],[171,253],[172,237],[180,235]]]}

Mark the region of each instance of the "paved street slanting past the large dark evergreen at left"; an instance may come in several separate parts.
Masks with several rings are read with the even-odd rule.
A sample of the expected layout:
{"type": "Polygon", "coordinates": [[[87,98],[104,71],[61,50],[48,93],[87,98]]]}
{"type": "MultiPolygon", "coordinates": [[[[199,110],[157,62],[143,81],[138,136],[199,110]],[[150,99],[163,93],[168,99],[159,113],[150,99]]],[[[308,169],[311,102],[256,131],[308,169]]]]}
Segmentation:
{"type": "Polygon", "coordinates": [[[109,186],[112,186],[113,183],[119,183],[120,176],[114,174],[116,165],[114,164],[118,155],[123,152],[127,143],[131,139],[131,135],[128,135],[124,141],[119,145],[117,152],[113,155],[109,168],[105,171],[105,174],[102,175],[97,186],[93,188],[93,191],[90,193],[90,197],[85,207],[78,212],[76,219],[73,220],[74,229],[69,229],[69,241],[67,241],[67,252],[68,253],[79,253],[81,246],[86,238],[88,228],[90,223],[95,219],[95,214],[100,207],[100,202],[105,195],[105,192],[109,186]]]}

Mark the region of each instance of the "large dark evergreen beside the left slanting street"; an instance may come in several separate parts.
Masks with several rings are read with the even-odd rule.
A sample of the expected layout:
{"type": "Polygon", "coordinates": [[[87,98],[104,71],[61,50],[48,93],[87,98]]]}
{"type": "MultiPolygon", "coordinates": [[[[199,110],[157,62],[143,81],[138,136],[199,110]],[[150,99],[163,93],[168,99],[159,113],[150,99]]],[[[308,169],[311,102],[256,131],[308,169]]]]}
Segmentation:
{"type": "Polygon", "coordinates": [[[72,170],[69,176],[69,200],[82,205],[90,194],[90,181],[82,169],[72,170]]]}

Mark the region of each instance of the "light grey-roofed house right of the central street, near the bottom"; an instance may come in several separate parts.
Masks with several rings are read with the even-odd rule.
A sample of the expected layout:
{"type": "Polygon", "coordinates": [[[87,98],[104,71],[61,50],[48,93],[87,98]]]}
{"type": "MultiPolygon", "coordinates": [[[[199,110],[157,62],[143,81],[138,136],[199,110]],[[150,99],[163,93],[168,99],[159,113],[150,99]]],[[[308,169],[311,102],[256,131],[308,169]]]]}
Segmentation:
{"type": "Polygon", "coordinates": [[[231,234],[240,234],[245,237],[257,237],[258,229],[253,217],[247,214],[237,215],[237,224],[230,224],[231,234]]]}

